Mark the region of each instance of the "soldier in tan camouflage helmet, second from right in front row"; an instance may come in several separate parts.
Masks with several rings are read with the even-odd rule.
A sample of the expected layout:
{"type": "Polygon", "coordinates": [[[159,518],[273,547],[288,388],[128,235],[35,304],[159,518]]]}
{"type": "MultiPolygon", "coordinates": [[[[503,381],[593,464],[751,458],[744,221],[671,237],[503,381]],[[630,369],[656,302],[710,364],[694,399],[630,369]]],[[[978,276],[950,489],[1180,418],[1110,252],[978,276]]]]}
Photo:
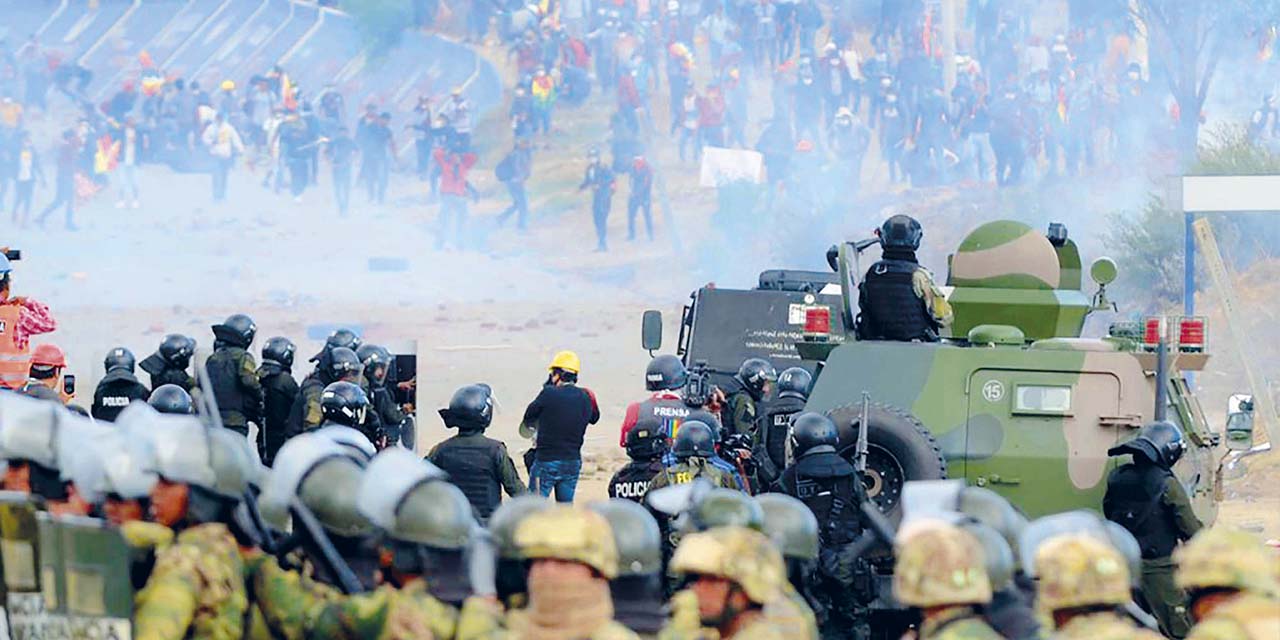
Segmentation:
{"type": "Polygon", "coordinates": [[[1050,538],[1036,549],[1037,605],[1064,640],[1160,640],[1120,608],[1129,604],[1129,563],[1110,543],[1088,534],[1050,538]]]}

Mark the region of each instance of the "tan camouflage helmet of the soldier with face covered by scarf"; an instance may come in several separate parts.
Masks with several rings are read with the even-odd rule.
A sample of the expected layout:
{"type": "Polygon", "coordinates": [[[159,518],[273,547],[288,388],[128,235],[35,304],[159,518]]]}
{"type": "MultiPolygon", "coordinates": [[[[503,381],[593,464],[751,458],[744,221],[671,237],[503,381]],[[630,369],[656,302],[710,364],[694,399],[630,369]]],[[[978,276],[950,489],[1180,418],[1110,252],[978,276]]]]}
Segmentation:
{"type": "Polygon", "coordinates": [[[605,579],[618,575],[618,549],[604,516],[585,507],[557,504],[516,525],[516,547],[527,559],[580,562],[605,579]]]}

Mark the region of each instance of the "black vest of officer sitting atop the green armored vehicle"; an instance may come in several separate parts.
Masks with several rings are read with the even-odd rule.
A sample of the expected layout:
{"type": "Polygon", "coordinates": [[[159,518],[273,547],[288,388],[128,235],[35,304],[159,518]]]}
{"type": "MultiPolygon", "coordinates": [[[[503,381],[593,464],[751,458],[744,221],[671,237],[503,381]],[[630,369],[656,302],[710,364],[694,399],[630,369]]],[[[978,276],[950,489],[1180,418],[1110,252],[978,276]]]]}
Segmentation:
{"type": "Polygon", "coordinates": [[[920,265],[881,260],[859,285],[858,337],[864,340],[936,340],[933,319],[915,294],[913,278],[920,265]]]}

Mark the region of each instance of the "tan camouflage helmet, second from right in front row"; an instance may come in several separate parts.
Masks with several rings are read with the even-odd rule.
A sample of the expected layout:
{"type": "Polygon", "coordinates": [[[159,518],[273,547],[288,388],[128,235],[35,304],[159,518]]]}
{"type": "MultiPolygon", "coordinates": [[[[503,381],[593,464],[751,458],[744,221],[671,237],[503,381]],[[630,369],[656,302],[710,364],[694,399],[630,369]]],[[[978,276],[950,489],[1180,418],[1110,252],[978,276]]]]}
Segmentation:
{"type": "Polygon", "coordinates": [[[1036,550],[1036,603],[1074,609],[1129,602],[1129,563],[1110,544],[1087,534],[1050,538],[1036,550]]]}

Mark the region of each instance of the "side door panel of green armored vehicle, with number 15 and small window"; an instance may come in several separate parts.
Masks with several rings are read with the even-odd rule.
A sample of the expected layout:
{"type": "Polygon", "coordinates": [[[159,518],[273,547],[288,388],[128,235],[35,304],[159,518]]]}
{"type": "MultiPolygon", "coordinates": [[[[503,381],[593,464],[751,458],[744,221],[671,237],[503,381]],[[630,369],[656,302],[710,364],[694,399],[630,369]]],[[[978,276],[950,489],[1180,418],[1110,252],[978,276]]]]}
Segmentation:
{"type": "Polygon", "coordinates": [[[970,485],[1000,493],[1033,518],[1082,502],[1101,508],[1114,467],[1107,449],[1126,430],[1115,421],[1124,406],[1119,378],[979,369],[968,392],[970,485]]]}

